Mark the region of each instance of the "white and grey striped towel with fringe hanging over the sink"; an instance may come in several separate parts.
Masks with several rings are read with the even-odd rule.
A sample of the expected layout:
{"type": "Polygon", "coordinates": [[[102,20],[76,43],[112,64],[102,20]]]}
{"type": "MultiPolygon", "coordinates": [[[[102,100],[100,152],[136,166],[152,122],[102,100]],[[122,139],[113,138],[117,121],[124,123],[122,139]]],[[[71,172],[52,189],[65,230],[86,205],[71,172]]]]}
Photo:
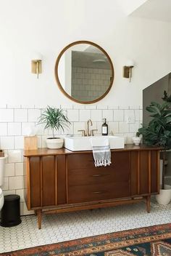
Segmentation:
{"type": "Polygon", "coordinates": [[[109,140],[107,137],[91,137],[91,146],[96,167],[106,167],[107,165],[112,164],[109,140]]]}

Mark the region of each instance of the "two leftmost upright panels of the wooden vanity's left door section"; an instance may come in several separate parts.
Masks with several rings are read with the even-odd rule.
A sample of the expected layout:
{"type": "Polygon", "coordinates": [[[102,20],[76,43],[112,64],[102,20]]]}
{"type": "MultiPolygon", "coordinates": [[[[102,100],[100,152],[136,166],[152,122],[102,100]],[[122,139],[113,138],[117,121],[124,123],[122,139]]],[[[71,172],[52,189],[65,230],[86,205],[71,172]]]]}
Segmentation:
{"type": "Polygon", "coordinates": [[[28,188],[30,209],[57,204],[57,161],[55,156],[31,156],[28,188]]]}

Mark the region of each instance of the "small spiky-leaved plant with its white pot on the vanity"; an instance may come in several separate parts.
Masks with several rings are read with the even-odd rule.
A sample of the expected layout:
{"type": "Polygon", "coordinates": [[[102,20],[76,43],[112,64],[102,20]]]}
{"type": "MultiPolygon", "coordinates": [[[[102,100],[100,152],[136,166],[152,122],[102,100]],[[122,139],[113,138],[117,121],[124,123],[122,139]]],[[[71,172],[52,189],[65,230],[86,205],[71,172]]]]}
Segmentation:
{"type": "Polygon", "coordinates": [[[70,121],[64,113],[63,109],[51,108],[47,106],[46,110],[41,113],[38,124],[45,124],[44,129],[51,129],[53,137],[46,139],[47,148],[62,148],[64,139],[55,137],[54,132],[69,127],[70,121]]]}

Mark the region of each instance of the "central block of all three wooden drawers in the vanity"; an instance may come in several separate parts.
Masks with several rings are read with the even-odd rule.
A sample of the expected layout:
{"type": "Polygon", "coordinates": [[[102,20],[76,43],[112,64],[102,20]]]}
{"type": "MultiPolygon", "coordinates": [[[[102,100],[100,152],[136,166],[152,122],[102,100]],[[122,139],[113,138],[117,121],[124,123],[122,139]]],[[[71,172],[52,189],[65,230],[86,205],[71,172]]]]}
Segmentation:
{"type": "Polygon", "coordinates": [[[69,204],[130,196],[129,153],[112,153],[107,167],[94,167],[92,153],[68,156],[67,186],[69,204]]]}

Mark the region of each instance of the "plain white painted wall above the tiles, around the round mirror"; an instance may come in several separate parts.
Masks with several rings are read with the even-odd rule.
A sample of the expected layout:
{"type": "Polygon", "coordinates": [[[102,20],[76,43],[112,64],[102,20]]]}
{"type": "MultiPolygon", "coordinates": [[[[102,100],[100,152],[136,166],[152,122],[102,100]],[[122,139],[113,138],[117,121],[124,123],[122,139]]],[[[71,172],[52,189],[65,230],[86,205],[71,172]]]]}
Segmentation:
{"type": "Polygon", "coordinates": [[[0,0],[0,4],[1,104],[72,103],[54,77],[57,56],[72,41],[96,42],[114,63],[114,86],[97,105],[141,105],[142,89],[171,70],[170,23],[126,17],[117,0],[0,0]],[[39,79],[30,73],[33,50],[43,55],[39,79]],[[122,78],[128,58],[135,61],[131,83],[122,78]]]}

